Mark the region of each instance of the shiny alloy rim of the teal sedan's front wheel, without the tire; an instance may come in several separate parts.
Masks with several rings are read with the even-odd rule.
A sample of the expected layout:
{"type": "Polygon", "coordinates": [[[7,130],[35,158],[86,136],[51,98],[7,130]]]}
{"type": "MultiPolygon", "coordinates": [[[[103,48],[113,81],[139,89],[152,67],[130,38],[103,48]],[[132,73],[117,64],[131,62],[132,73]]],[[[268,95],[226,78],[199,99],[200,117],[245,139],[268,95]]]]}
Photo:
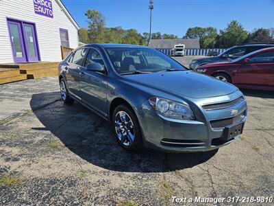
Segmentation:
{"type": "Polygon", "coordinates": [[[134,123],[125,111],[119,111],[115,115],[116,135],[124,146],[132,146],[135,139],[134,123]]]}

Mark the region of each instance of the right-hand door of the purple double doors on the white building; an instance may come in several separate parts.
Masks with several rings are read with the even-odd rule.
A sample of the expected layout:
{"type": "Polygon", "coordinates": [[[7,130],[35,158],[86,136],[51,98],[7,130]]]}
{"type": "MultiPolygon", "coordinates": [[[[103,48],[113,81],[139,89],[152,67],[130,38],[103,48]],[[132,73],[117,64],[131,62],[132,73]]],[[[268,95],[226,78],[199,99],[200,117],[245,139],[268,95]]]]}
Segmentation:
{"type": "Polygon", "coordinates": [[[38,61],[38,48],[36,42],[36,33],[34,30],[34,25],[29,23],[23,23],[23,30],[25,36],[25,45],[27,52],[27,60],[29,62],[38,61]]]}

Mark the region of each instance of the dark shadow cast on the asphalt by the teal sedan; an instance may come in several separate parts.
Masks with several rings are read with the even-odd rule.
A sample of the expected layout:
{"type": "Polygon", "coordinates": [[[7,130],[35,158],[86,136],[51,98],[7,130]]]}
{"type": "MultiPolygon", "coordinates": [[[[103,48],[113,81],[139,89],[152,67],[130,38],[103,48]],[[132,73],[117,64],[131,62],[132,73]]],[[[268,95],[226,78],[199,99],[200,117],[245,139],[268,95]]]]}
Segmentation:
{"type": "Polygon", "coordinates": [[[59,92],[32,95],[30,106],[45,128],[82,159],[107,170],[120,172],[168,172],[192,168],[215,151],[172,154],[144,149],[138,153],[117,144],[110,123],[75,102],[64,104],[59,92]],[[50,101],[51,100],[51,101],[50,101]],[[51,102],[51,103],[50,103],[51,102]]]}

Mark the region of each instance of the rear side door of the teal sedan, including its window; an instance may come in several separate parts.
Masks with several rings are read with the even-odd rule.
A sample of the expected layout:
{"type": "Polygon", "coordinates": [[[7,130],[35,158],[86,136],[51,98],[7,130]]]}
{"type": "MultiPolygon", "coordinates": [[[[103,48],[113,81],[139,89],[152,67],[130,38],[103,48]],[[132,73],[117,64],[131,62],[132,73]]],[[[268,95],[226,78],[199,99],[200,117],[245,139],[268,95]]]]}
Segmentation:
{"type": "Polygon", "coordinates": [[[79,89],[80,70],[83,67],[82,65],[87,51],[87,48],[77,49],[69,60],[68,66],[64,68],[66,70],[66,84],[69,87],[69,91],[79,100],[82,99],[79,89]]]}

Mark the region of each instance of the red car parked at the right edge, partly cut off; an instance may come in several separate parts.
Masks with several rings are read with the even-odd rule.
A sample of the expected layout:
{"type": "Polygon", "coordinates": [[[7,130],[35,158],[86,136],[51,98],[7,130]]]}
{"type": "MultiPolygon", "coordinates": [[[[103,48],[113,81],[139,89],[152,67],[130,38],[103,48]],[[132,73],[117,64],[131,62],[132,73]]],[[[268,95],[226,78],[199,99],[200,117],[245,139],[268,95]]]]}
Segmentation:
{"type": "Polygon", "coordinates": [[[274,47],[260,49],[231,62],[203,65],[196,71],[240,88],[274,91],[274,47]]]}

